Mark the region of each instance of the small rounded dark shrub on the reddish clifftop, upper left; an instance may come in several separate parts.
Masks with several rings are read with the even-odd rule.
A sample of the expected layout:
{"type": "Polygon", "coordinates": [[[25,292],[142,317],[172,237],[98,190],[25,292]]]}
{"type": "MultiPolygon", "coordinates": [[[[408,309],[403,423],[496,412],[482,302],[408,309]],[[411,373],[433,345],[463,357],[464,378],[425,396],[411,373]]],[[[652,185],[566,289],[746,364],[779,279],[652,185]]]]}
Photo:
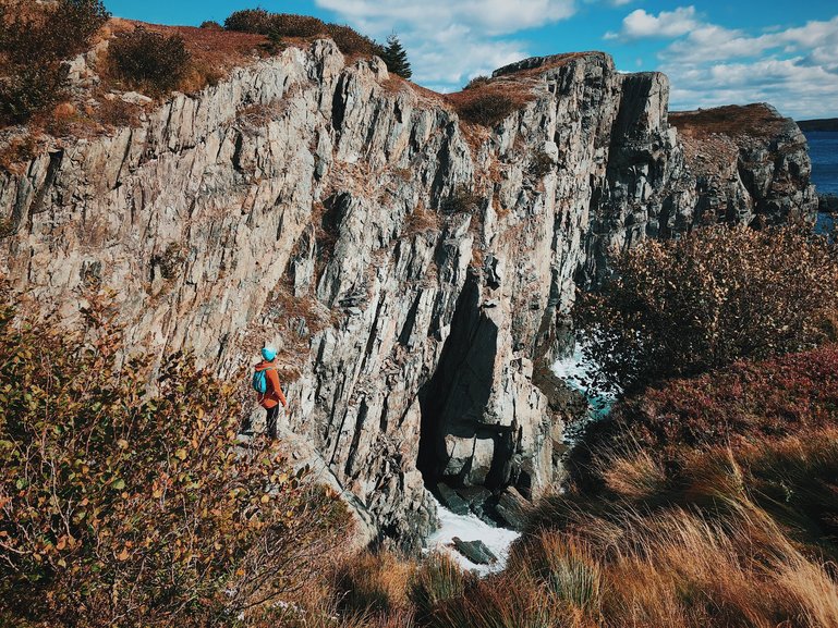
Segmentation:
{"type": "Polygon", "coordinates": [[[158,95],[178,87],[190,62],[183,37],[167,37],[142,26],[118,36],[110,45],[109,54],[119,78],[158,95]]]}

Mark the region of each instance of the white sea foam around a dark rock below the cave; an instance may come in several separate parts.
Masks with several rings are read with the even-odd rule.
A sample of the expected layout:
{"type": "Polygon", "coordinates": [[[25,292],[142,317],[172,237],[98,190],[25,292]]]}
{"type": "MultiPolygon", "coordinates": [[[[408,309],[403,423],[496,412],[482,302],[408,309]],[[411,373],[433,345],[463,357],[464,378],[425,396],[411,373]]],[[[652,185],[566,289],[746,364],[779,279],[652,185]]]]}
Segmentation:
{"type": "Polygon", "coordinates": [[[439,513],[439,530],[427,539],[429,552],[439,552],[453,558],[463,569],[487,576],[506,567],[509,549],[521,533],[508,528],[493,528],[475,515],[456,515],[437,502],[439,513]],[[454,550],[452,539],[459,537],[462,541],[483,541],[491,553],[498,557],[494,565],[475,565],[454,550]]]}

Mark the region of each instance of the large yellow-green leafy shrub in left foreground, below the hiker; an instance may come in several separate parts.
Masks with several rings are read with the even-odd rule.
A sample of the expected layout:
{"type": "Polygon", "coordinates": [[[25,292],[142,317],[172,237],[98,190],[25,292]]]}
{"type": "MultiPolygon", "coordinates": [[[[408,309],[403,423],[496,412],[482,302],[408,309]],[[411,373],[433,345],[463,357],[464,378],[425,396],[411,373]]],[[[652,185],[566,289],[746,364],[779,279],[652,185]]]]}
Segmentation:
{"type": "Polygon", "coordinates": [[[266,443],[236,446],[235,389],[187,358],[156,392],[146,358],[118,368],[93,304],[86,334],[0,309],[0,617],[231,626],[304,587],[339,502],[266,443]]]}

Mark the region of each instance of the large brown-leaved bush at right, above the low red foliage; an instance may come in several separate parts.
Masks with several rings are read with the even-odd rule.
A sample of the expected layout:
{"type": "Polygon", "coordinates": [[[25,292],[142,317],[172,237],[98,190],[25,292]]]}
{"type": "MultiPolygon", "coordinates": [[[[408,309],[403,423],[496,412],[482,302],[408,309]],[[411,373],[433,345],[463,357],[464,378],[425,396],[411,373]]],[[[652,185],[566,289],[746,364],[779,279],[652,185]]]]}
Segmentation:
{"type": "Polygon", "coordinates": [[[707,227],[647,241],[614,261],[574,310],[596,375],[631,393],[834,335],[838,251],[807,225],[707,227]]]}

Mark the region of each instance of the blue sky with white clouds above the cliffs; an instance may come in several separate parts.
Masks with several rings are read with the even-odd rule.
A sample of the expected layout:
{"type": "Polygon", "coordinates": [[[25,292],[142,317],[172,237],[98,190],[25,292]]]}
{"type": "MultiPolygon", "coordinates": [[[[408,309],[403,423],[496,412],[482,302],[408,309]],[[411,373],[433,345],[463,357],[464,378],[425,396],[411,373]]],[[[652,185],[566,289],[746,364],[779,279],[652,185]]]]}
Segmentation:
{"type": "Polygon", "coordinates": [[[414,81],[438,91],[525,57],[605,50],[621,71],[659,70],[671,108],[768,101],[797,119],[838,116],[836,0],[105,0],[110,11],[197,25],[260,5],[398,32],[414,81]]]}

